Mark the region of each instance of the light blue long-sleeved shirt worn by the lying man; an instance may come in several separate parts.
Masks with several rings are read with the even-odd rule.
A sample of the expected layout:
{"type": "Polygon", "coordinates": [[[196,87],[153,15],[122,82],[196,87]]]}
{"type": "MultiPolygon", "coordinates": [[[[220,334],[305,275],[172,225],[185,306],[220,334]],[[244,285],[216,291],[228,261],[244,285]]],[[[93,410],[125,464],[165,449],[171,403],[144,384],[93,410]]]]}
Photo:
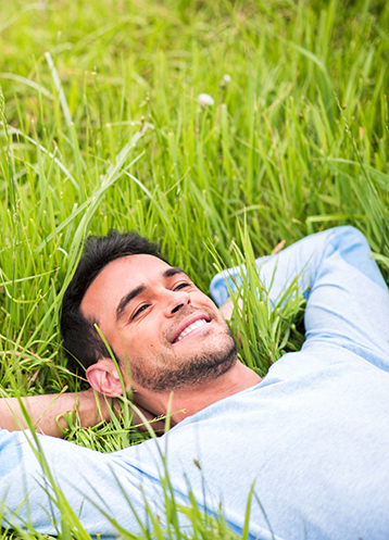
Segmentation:
{"type": "MultiPolygon", "coordinates": [[[[177,502],[188,503],[190,487],[210,514],[222,504],[237,532],[254,484],[252,539],[389,538],[389,298],[368,244],[352,227],[339,227],[259,260],[258,267],[265,284],[276,268],[271,298],[300,276],[308,299],[302,350],[285,354],[262,382],[158,440],[111,454],[39,437],[88,532],[117,533],[106,515],[140,532],[134,512],[147,526],[145,498],[163,524],[166,454],[177,502]]],[[[212,280],[217,304],[228,298],[226,277],[239,279],[238,273],[212,280]]],[[[48,493],[55,501],[25,435],[0,431],[3,522],[15,523],[17,510],[39,532],[54,533],[59,511],[48,493]]]]}

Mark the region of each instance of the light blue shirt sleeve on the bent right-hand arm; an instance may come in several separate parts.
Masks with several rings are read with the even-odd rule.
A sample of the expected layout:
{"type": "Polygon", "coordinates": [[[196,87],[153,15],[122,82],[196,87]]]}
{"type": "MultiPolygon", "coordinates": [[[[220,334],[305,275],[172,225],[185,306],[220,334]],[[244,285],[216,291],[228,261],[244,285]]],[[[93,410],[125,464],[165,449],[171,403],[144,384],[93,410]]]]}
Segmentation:
{"type": "MultiPolygon", "coordinates": [[[[275,302],[298,278],[308,300],[305,343],[343,347],[389,371],[389,294],[365,237],[353,227],[311,235],[277,255],[256,260],[259,276],[275,302]]],[[[217,274],[210,290],[221,305],[241,282],[244,268],[217,274]]]]}

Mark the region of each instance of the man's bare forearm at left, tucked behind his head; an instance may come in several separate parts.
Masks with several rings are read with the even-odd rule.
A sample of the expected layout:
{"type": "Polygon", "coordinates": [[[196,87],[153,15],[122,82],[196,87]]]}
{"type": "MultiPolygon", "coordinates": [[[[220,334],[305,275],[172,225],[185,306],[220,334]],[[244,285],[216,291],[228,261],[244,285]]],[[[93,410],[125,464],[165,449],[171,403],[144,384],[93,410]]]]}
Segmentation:
{"type": "MultiPolygon", "coordinates": [[[[99,395],[97,401],[92,389],[77,393],[29,395],[22,398],[22,402],[37,431],[52,437],[63,436],[61,429],[66,428],[66,422],[61,415],[67,412],[77,411],[83,427],[109,420],[111,416],[108,406],[110,400],[99,395]]],[[[1,399],[0,429],[14,431],[27,427],[17,398],[1,399]]]]}

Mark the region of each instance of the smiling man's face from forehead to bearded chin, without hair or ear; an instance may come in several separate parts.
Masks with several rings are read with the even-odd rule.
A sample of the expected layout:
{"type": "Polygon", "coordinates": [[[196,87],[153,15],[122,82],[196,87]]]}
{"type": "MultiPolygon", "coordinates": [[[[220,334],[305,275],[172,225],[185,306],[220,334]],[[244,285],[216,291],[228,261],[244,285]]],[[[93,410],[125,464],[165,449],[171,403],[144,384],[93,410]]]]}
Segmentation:
{"type": "Polygon", "coordinates": [[[96,321],[134,382],[165,391],[201,384],[237,361],[215,304],[179,268],[151,255],[106,265],[88,288],[83,315],[96,321]]]}

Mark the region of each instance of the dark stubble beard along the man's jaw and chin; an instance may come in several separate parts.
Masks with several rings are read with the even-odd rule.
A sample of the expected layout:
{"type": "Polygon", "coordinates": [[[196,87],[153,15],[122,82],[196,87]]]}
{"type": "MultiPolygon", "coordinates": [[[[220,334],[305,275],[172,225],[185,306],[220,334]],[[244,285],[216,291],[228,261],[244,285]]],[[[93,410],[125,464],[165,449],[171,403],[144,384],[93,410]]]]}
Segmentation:
{"type": "Polygon", "coordinates": [[[237,342],[227,325],[222,336],[225,340],[219,350],[201,352],[178,365],[170,366],[171,360],[162,355],[163,367],[145,373],[141,361],[133,362],[131,377],[138,385],[154,392],[172,391],[215,380],[237,362],[237,342]]]}

